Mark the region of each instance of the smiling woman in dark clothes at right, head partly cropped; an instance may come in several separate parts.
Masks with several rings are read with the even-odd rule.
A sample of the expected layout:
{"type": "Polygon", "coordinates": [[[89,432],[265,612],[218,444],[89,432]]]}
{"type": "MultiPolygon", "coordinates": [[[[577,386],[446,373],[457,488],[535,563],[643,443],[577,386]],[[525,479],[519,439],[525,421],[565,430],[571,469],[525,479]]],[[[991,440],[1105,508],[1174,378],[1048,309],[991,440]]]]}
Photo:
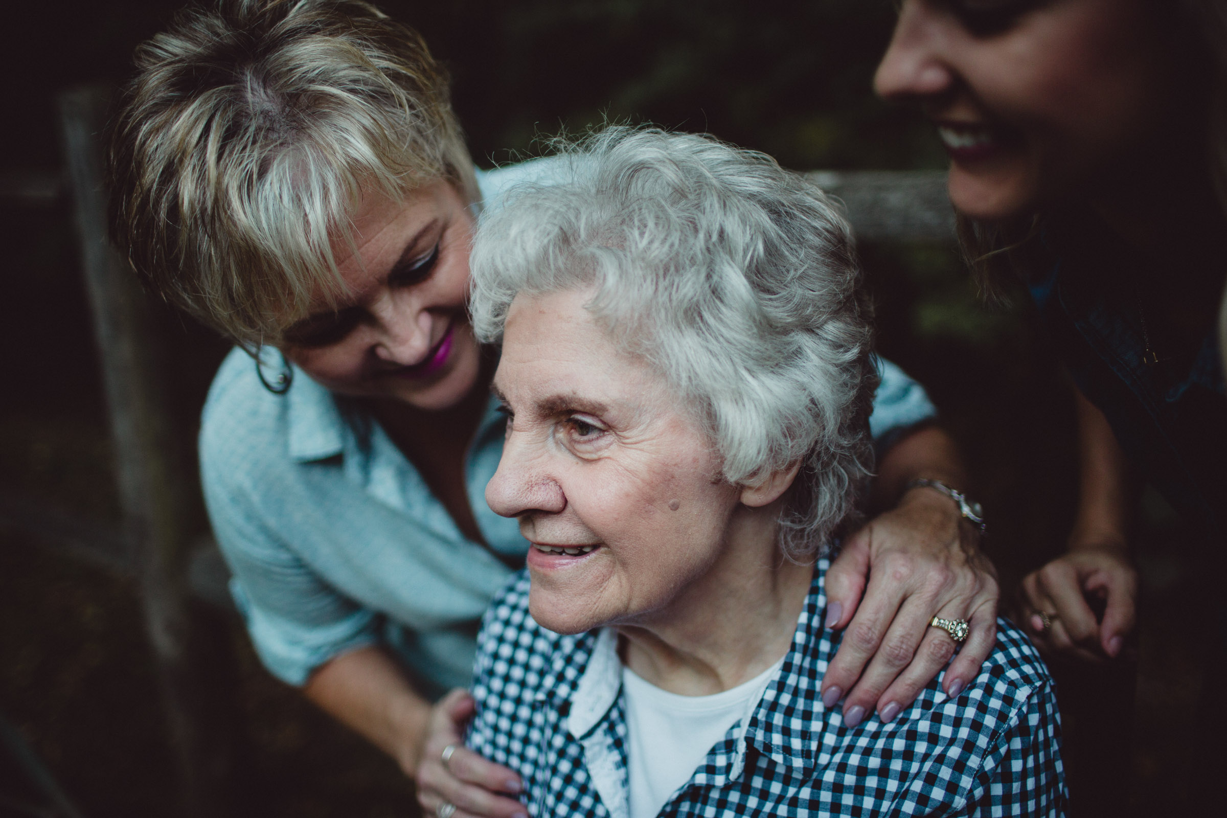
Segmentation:
{"type": "MultiPolygon", "coordinates": [[[[1135,472],[1200,541],[1214,661],[1227,633],[1227,4],[906,0],[876,90],[937,126],[968,261],[989,297],[1025,285],[1076,386],[1079,510],[1067,552],[1023,580],[1032,638],[1120,655],[1135,472]]],[[[1206,689],[1215,717],[1221,678],[1206,689]]]]}

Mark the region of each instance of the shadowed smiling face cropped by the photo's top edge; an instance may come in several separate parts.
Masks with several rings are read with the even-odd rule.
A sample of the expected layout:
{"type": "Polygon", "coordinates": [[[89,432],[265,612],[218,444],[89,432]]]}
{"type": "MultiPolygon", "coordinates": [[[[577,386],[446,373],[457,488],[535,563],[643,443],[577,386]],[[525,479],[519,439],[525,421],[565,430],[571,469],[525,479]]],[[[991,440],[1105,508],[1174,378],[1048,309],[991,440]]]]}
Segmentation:
{"type": "Polygon", "coordinates": [[[918,101],[973,218],[1025,216],[1114,182],[1173,128],[1147,0],[904,0],[875,87],[918,101]],[[1106,179],[1107,177],[1107,179],[1106,179]]]}

